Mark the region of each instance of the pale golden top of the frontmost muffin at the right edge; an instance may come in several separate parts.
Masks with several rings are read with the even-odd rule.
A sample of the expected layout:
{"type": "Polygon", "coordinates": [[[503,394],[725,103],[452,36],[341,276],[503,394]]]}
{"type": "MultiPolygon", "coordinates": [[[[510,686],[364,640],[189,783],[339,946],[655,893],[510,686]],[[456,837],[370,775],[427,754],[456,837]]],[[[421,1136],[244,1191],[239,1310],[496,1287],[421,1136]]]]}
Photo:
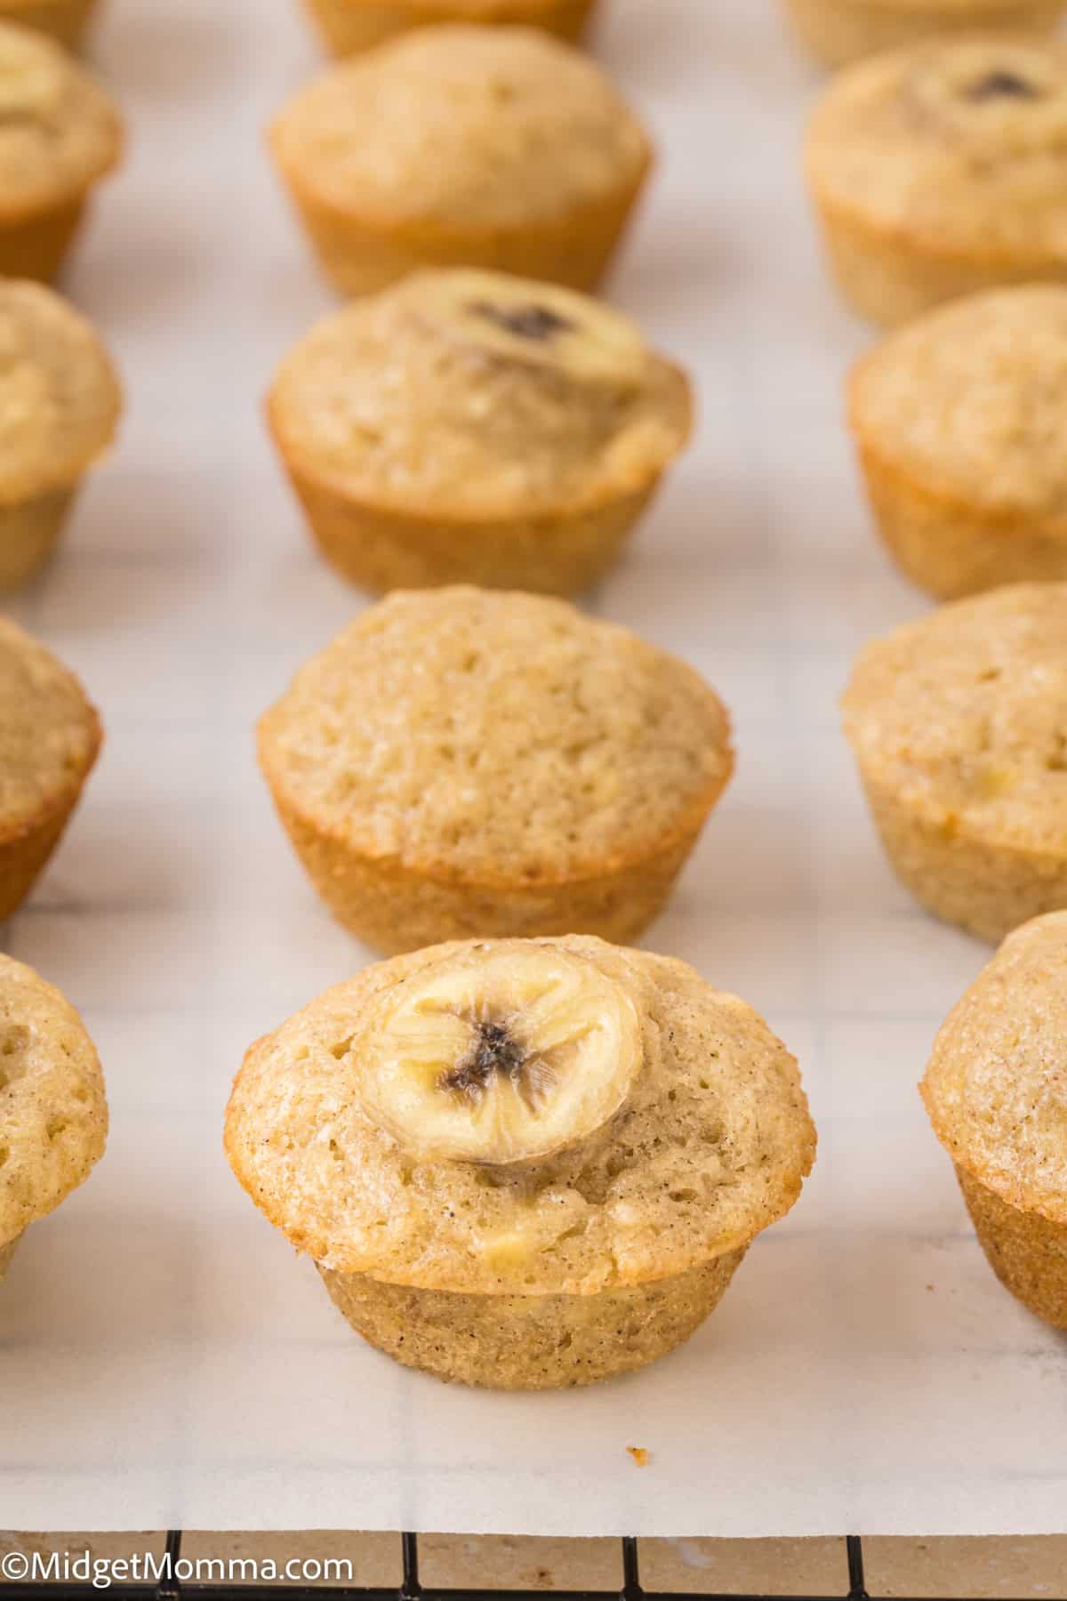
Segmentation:
{"type": "Polygon", "coordinates": [[[921,1095],[953,1162],[1067,1223],[1067,913],[1008,935],[942,1025],[921,1095]]]}

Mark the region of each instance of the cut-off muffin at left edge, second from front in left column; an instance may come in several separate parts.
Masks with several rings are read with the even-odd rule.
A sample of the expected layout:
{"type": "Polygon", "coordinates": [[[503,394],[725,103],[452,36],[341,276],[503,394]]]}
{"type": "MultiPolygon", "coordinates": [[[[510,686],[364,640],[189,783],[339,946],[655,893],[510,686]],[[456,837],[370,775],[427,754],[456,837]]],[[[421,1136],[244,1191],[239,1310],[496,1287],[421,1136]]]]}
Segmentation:
{"type": "Polygon", "coordinates": [[[0,618],[0,922],[59,844],[101,746],[72,672],[0,618]]]}

